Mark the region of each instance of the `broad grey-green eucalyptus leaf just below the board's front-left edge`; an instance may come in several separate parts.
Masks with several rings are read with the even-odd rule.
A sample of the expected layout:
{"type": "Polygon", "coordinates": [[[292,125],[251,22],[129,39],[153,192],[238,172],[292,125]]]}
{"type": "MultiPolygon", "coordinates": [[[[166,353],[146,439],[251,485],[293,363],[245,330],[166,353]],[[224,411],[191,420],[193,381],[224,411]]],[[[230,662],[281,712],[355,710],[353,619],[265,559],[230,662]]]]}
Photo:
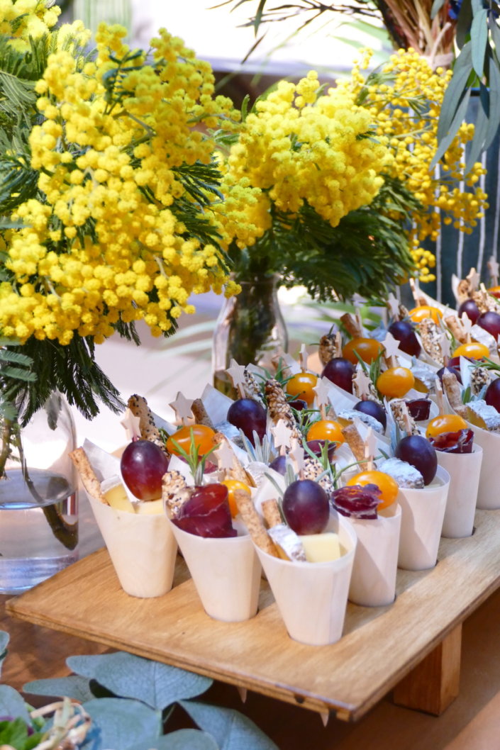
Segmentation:
{"type": "Polygon", "coordinates": [[[182,698],[204,693],[212,679],[122,651],[95,656],[71,656],[68,667],[96,679],[115,695],[137,698],[164,709],[182,698]]]}

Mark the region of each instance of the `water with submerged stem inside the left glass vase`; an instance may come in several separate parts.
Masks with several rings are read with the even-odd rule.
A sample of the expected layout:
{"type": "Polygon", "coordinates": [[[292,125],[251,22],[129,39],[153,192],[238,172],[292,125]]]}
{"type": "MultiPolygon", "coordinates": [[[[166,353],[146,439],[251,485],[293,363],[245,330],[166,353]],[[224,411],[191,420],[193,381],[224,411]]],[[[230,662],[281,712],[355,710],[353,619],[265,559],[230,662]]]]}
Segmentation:
{"type": "Polygon", "coordinates": [[[0,593],[41,583],[78,557],[77,493],[47,469],[10,469],[0,480],[0,593]]]}

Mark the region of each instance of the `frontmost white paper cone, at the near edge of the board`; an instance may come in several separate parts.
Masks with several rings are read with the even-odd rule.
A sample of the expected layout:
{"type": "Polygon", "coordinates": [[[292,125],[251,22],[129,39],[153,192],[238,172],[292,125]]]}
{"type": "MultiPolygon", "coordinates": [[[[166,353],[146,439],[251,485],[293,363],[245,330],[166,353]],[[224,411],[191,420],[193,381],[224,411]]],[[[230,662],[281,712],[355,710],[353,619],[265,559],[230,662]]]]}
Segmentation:
{"type": "Polygon", "coordinates": [[[310,646],[335,643],[344,627],[357,538],[347,518],[338,517],[331,530],[345,549],[332,562],[291,562],[256,547],[288,634],[310,646]]]}

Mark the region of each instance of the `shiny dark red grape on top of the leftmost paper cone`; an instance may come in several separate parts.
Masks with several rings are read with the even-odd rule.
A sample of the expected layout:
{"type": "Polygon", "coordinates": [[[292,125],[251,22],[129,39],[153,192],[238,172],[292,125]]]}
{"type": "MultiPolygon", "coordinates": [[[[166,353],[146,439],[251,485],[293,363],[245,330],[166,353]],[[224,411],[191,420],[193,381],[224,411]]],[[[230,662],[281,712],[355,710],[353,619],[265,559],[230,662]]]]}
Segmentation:
{"type": "Polygon", "coordinates": [[[168,470],[167,454],[151,440],[134,440],[122,453],[123,481],[140,500],[161,497],[161,478],[168,470]]]}

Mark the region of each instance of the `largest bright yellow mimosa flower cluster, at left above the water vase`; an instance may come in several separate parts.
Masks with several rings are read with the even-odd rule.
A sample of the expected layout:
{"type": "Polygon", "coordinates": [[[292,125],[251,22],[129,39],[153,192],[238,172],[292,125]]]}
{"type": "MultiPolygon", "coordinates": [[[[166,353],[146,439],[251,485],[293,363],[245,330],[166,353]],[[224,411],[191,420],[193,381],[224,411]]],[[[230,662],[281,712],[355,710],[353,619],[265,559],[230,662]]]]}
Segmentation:
{"type": "MultiPolygon", "coordinates": [[[[86,34],[78,25],[68,33],[86,34]]],[[[152,59],[130,52],[124,36],[101,25],[95,62],[57,46],[36,85],[44,120],[29,142],[39,196],[12,215],[23,226],[5,235],[12,278],[0,284],[0,330],[21,343],[99,343],[134,320],[161,335],[194,312],[191,293],[233,293],[221,248],[259,231],[241,222],[242,205],[256,200],[248,181],[227,182],[225,210],[218,196],[212,211],[186,187],[190,169],[212,160],[204,127],[236,119],[215,97],[209,65],[167,31],[152,40],[152,59]],[[210,229],[204,242],[188,220],[210,229]]]]}

